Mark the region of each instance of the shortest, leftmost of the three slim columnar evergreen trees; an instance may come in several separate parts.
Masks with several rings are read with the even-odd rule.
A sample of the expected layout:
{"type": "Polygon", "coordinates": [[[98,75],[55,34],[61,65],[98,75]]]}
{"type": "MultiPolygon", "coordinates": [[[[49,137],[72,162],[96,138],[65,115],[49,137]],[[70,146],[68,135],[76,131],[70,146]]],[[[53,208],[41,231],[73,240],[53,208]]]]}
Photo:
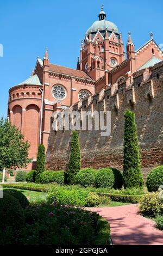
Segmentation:
{"type": "Polygon", "coordinates": [[[43,144],[39,145],[36,162],[36,175],[45,171],[45,147],[43,144]]]}

